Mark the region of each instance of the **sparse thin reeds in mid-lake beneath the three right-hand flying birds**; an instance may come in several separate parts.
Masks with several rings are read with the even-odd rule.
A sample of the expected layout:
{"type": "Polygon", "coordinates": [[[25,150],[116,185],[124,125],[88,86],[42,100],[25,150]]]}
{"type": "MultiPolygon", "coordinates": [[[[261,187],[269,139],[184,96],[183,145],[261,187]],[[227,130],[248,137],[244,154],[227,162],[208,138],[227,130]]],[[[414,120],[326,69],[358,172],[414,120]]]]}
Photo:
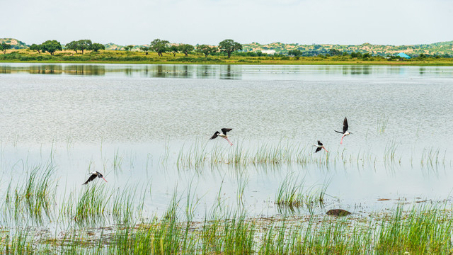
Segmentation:
{"type": "MultiPolygon", "coordinates": [[[[219,164],[228,164],[236,168],[251,165],[299,164],[307,166],[315,164],[328,168],[331,164],[337,166],[338,163],[344,166],[353,164],[357,168],[364,168],[365,165],[376,167],[378,162],[401,164],[402,159],[401,155],[397,154],[399,143],[393,139],[387,141],[382,157],[372,152],[371,148],[349,152],[343,147],[336,152],[332,149],[329,153],[315,154],[311,145],[301,145],[289,140],[256,144],[248,144],[239,140],[234,143],[233,147],[227,147],[224,143],[213,145],[208,145],[208,143],[197,140],[187,148],[181,147],[176,159],[177,168],[202,169],[207,166],[213,168],[219,164]]],[[[427,156],[432,158],[435,156],[433,153],[431,152],[431,155],[423,154],[424,159],[427,156]]],[[[440,161],[440,155],[437,160],[440,161]]],[[[433,162],[435,162],[435,157],[433,162]]]]}

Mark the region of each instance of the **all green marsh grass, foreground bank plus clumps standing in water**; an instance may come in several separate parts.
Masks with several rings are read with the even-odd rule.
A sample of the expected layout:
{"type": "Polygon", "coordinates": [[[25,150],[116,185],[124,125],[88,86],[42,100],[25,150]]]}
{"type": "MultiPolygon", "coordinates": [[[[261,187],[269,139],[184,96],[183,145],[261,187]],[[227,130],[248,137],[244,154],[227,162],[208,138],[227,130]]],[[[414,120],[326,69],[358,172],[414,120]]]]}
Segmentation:
{"type": "MultiPolygon", "coordinates": [[[[387,146],[386,161],[396,160],[394,140],[387,146]]],[[[236,171],[236,202],[239,205],[244,203],[243,196],[248,187],[247,172],[243,171],[247,168],[241,167],[246,164],[252,167],[270,164],[278,169],[282,163],[297,162],[299,159],[320,166],[326,162],[358,164],[359,160],[373,160],[369,156],[371,152],[366,150],[353,154],[343,150],[331,154],[332,158],[329,158],[328,154],[310,153],[311,147],[289,142],[259,144],[252,148],[239,142],[234,149],[214,146],[214,152],[209,148],[192,148],[198,155],[191,157],[190,162],[198,162],[201,167],[202,164],[210,164],[213,155],[222,162],[232,159],[229,166],[236,171]]],[[[185,152],[180,155],[185,158],[185,152]]],[[[445,154],[443,157],[440,149],[425,149],[423,164],[435,166],[445,161],[445,154]]],[[[181,162],[187,163],[185,160],[181,162]]],[[[92,163],[88,169],[91,167],[92,163]]],[[[2,208],[4,219],[18,219],[18,225],[29,218],[37,225],[46,220],[46,216],[55,220],[52,213],[59,206],[52,203],[57,185],[53,177],[55,169],[55,164],[50,162],[28,169],[22,182],[10,181],[2,208]]],[[[193,222],[201,199],[197,197],[194,181],[183,191],[185,196],[178,195],[175,188],[164,215],[145,215],[140,219],[137,215],[144,213],[144,200],[151,196],[151,186],[140,190],[127,183],[124,188],[113,189],[103,182],[92,182],[62,198],[57,221],[70,222],[65,225],[69,234],[64,236],[64,241],[57,237],[53,240],[40,237],[33,231],[13,229],[11,232],[0,232],[0,253],[401,254],[408,251],[410,254],[448,254],[452,250],[453,217],[452,211],[445,206],[414,206],[409,211],[398,207],[390,214],[372,212],[343,218],[316,214],[314,209],[318,205],[321,207],[328,196],[326,192],[330,181],[326,179],[320,188],[307,187],[304,186],[304,179],[289,174],[280,184],[275,204],[310,212],[309,216],[302,217],[292,213],[292,217],[249,218],[244,208],[238,206],[233,209],[226,203],[228,198],[221,186],[214,205],[211,209],[205,209],[205,220],[201,222],[193,222]],[[95,230],[96,237],[81,233],[88,226],[105,225],[111,226],[113,232],[103,233],[101,228],[95,230]],[[98,232],[102,232],[101,236],[98,232]]]]}

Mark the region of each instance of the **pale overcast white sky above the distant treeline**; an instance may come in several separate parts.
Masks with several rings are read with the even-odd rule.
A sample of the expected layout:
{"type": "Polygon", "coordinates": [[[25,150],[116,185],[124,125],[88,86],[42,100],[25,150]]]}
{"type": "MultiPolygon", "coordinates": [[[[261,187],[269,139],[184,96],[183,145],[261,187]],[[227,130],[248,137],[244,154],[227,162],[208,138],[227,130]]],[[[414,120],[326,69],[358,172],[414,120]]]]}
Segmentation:
{"type": "Polygon", "coordinates": [[[0,38],[195,45],[453,40],[449,0],[0,0],[0,38]]]}

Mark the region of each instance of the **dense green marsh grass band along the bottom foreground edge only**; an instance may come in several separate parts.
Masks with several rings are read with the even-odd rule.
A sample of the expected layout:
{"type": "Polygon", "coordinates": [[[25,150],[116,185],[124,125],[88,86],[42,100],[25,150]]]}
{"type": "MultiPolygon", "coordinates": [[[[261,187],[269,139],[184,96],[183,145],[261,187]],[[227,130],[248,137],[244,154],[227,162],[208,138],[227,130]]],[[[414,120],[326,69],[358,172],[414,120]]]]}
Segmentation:
{"type": "MultiPolygon", "coordinates": [[[[113,199],[120,203],[123,197],[113,199]]],[[[94,238],[71,229],[63,239],[41,241],[20,229],[14,234],[1,232],[0,250],[4,254],[448,254],[453,248],[452,210],[442,205],[414,205],[409,210],[401,205],[390,213],[373,212],[367,217],[249,218],[222,204],[223,213],[211,210],[204,221],[192,222],[177,215],[194,205],[181,208],[180,202],[175,192],[163,217],[115,224],[113,232],[101,230],[94,238]]]]}

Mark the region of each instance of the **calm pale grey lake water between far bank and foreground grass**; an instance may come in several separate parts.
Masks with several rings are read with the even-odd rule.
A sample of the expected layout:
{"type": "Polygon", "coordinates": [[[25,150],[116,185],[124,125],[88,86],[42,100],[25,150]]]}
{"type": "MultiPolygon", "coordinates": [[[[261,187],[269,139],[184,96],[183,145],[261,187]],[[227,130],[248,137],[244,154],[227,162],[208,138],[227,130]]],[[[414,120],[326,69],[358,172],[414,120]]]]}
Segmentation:
{"type": "Polygon", "coordinates": [[[328,183],[316,213],[384,210],[398,198],[449,201],[452,98],[452,67],[3,63],[1,182],[52,159],[61,191],[78,191],[94,169],[109,181],[98,184],[150,186],[149,215],[190,190],[200,218],[219,194],[250,215],[278,214],[275,194],[287,176],[307,189],[328,183]],[[345,116],[352,135],[340,145],[333,130],[345,116]],[[209,140],[220,128],[233,128],[233,147],[209,140]],[[312,154],[316,140],[330,164],[176,164],[195,145],[228,154],[279,142],[326,159],[312,154]]]}

